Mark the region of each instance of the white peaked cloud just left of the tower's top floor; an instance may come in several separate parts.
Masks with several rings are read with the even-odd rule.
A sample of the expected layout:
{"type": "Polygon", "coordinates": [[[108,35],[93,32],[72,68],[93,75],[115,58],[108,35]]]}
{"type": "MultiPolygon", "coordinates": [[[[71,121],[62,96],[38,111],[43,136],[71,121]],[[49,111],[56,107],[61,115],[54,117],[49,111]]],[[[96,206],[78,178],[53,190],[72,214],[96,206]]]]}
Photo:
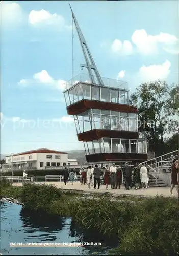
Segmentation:
{"type": "Polygon", "coordinates": [[[22,79],[18,82],[21,86],[29,86],[30,84],[46,84],[62,91],[64,90],[65,83],[67,82],[64,80],[54,79],[46,70],[42,70],[39,73],[34,74],[32,79],[22,79]]]}

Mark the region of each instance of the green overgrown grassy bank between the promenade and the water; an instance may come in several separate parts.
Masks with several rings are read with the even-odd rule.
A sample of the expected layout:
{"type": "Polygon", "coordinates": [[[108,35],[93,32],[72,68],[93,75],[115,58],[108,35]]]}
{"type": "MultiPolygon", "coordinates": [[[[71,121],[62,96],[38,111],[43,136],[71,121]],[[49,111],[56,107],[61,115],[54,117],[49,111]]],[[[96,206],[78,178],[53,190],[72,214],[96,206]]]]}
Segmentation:
{"type": "Polygon", "coordinates": [[[18,199],[24,208],[72,217],[82,227],[118,237],[112,251],[125,255],[177,255],[178,200],[176,198],[85,194],[50,185],[1,187],[1,198],[18,199]],[[115,201],[113,201],[115,200],[115,201]]]}

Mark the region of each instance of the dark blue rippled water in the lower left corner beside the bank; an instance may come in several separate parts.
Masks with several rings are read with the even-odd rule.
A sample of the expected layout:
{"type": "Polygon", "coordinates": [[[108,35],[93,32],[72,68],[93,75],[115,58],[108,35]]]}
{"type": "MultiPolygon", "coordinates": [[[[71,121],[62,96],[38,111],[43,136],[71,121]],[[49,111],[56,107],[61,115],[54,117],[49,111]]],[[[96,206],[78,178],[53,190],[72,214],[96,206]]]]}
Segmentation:
{"type": "Polygon", "coordinates": [[[0,202],[2,255],[93,255],[106,254],[117,241],[80,228],[71,218],[37,213],[20,205],[0,202]],[[10,247],[12,243],[100,242],[101,246],[10,247]]]}

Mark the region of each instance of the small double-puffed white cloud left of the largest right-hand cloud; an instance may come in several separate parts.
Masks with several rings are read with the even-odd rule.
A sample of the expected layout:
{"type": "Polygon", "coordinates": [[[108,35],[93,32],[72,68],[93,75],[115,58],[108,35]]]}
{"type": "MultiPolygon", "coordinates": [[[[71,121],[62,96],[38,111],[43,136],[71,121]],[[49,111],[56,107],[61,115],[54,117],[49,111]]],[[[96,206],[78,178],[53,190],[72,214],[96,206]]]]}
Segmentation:
{"type": "Polygon", "coordinates": [[[123,43],[115,39],[111,45],[111,50],[113,53],[117,54],[131,54],[133,51],[133,46],[130,41],[124,41],[123,43]]]}

